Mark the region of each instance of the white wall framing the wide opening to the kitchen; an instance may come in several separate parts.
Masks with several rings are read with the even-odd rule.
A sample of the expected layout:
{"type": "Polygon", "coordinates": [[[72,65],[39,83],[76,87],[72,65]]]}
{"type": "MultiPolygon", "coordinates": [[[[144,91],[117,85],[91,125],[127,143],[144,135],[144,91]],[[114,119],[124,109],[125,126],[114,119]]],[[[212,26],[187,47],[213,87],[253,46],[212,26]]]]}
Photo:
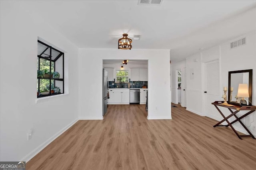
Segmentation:
{"type": "Polygon", "coordinates": [[[169,50],[79,50],[79,117],[102,119],[102,60],[148,60],[148,119],[171,119],[169,50]]]}

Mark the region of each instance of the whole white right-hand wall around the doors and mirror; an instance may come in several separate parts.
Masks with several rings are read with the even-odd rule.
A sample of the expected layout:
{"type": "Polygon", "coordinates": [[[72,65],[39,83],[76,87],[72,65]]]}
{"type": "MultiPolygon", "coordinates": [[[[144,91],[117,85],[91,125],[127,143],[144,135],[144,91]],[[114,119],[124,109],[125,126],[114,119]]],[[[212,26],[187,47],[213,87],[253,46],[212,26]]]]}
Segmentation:
{"type": "MultiPolygon", "coordinates": [[[[203,65],[206,62],[219,60],[220,63],[220,100],[224,93],[223,87],[228,87],[228,72],[234,70],[246,70],[253,69],[253,81],[252,81],[252,104],[256,105],[256,30],[230,39],[220,45],[206,49],[186,58],[186,85],[187,85],[187,110],[197,113],[198,115],[206,115],[204,112],[204,68],[203,65]],[[230,49],[230,43],[246,37],[246,45],[230,49]]],[[[175,84],[175,70],[182,68],[184,61],[172,64],[172,86],[175,84]]],[[[212,70],[214,71],[214,70],[212,70]]],[[[172,91],[174,94],[174,91],[172,91]]],[[[172,96],[172,101],[176,101],[176,95],[172,96]]],[[[213,101],[214,102],[214,101],[213,101]]],[[[226,108],[220,108],[225,115],[229,115],[230,112],[226,108]]],[[[219,114],[216,110],[216,114],[219,114]]],[[[240,111],[239,115],[244,114],[244,111],[240,111]]],[[[233,120],[233,118],[231,119],[233,120]]],[[[250,131],[256,135],[256,113],[252,113],[244,120],[245,125],[250,131]]],[[[242,132],[246,131],[241,127],[239,123],[235,123],[234,127],[242,132]]]]}

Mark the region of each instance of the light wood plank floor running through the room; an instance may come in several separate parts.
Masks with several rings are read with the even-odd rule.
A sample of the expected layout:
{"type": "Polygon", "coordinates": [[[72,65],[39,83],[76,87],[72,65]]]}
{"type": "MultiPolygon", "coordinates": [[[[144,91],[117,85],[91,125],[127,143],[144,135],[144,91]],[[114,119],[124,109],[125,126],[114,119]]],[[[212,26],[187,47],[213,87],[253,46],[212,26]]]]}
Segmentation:
{"type": "Polygon", "coordinates": [[[147,120],[145,105],[110,105],[104,120],[80,120],[27,162],[27,170],[255,170],[256,140],[185,108],[147,120]]]}

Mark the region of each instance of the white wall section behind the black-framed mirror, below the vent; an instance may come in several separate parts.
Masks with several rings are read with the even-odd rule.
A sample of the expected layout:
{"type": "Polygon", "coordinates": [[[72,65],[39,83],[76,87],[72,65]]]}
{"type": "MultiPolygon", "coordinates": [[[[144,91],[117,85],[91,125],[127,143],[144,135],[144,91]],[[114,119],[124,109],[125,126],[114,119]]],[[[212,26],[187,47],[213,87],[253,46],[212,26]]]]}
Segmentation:
{"type": "MultiPolygon", "coordinates": [[[[228,87],[228,71],[235,70],[252,70],[252,105],[256,105],[256,30],[245,35],[241,35],[234,39],[230,39],[226,43],[220,45],[220,60],[221,60],[221,81],[222,87],[228,87]],[[246,45],[230,49],[230,43],[246,37],[246,45]]],[[[226,115],[228,111],[223,110],[226,115]]],[[[244,114],[240,111],[238,115],[244,114]]],[[[242,119],[246,127],[256,136],[256,112],[242,119]]],[[[244,128],[235,123],[235,128],[243,133],[246,133],[244,128]]]]}

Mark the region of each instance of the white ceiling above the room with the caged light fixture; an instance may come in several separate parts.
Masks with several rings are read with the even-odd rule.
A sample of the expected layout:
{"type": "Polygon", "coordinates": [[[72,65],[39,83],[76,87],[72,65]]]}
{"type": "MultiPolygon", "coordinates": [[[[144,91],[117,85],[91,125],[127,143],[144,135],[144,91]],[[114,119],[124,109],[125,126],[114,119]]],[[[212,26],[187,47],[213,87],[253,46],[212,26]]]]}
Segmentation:
{"type": "Polygon", "coordinates": [[[133,49],[170,49],[181,60],[256,29],[256,1],[138,0],[27,1],[20,3],[80,48],[117,48],[122,33],[141,35],[133,49]],[[243,26],[244,25],[244,26],[243,26]]]}

